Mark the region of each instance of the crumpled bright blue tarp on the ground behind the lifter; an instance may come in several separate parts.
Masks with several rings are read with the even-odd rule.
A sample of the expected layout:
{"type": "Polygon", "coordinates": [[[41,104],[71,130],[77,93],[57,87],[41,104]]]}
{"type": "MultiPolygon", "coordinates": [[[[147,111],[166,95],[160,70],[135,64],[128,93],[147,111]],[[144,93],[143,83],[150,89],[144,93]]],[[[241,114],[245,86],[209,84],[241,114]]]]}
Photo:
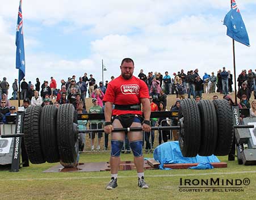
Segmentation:
{"type": "Polygon", "coordinates": [[[220,163],[220,160],[215,156],[199,156],[192,158],[183,157],[179,142],[165,142],[154,150],[154,159],[160,163],[160,169],[168,170],[170,168],[163,168],[163,164],[175,163],[199,163],[196,167],[191,169],[212,169],[210,163],[220,163]]]}

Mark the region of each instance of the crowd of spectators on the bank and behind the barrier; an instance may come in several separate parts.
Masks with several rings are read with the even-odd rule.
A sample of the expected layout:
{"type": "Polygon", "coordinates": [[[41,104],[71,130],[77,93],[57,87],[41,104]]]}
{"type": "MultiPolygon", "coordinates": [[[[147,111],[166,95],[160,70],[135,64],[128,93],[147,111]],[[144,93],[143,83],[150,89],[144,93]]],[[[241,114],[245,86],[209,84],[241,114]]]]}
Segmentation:
{"type": "MultiPolygon", "coordinates": [[[[255,70],[256,71],[256,70],[255,70]]],[[[144,74],[141,69],[138,77],[143,80],[148,88],[150,95],[150,106],[152,111],[165,111],[165,110],[178,110],[179,104],[182,99],[194,98],[196,101],[202,99],[202,93],[222,93],[224,96],[229,96],[229,93],[233,92],[233,75],[230,71],[226,71],[225,67],[218,70],[216,75],[214,72],[211,75],[204,73],[203,76],[199,75],[199,70],[189,70],[184,73],[184,70],[178,71],[177,73],[169,74],[165,71],[165,75],[161,73],[149,72],[148,75],[144,74]],[[171,108],[167,108],[167,95],[176,95],[177,101],[171,108]]],[[[93,77],[93,74],[87,76],[85,73],[79,77],[79,80],[75,79],[73,75],[66,81],[60,80],[60,84],[56,82],[54,77],[50,78],[50,81],[44,80],[40,83],[39,78],[36,78],[35,86],[31,81],[24,78],[20,84],[20,99],[23,100],[23,107],[26,109],[30,105],[44,105],[54,104],[58,107],[61,104],[73,104],[74,108],[78,113],[86,113],[86,97],[93,98],[94,106],[87,109],[89,112],[103,112],[103,97],[107,90],[108,81],[105,83],[102,81],[97,82],[93,77]],[[97,84],[98,83],[98,84],[97,84]],[[94,111],[93,111],[94,110],[94,111]],[[96,110],[96,111],[95,111],[96,110]],[[101,110],[101,111],[99,111],[101,110]]],[[[114,76],[111,76],[111,80],[114,76]]],[[[256,86],[255,86],[256,75],[253,70],[242,70],[241,74],[237,78],[238,92],[237,97],[240,99],[238,104],[240,108],[251,108],[251,116],[256,116],[256,101],[253,101],[250,106],[250,97],[253,92],[254,99],[256,99],[256,86]]],[[[1,122],[5,122],[5,116],[14,114],[16,108],[10,104],[9,99],[18,99],[18,80],[15,79],[12,83],[12,93],[10,91],[10,84],[4,77],[0,82],[0,100],[1,100],[1,122]]],[[[218,96],[213,96],[216,99],[218,96]]],[[[152,126],[155,125],[177,125],[177,118],[158,118],[152,119],[152,126]]],[[[83,122],[81,122],[83,123],[83,122]]],[[[98,138],[102,135],[98,134],[98,138]]],[[[158,138],[159,143],[166,142],[168,139],[173,137],[174,140],[178,139],[177,132],[173,131],[171,135],[169,131],[163,131],[158,138]]],[[[94,142],[95,135],[91,136],[94,142]]],[[[149,150],[154,145],[154,131],[151,133],[145,133],[145,148],[149,150]]],[[[94,149],[94,143],[91,144],[94,149]]],[[[106,145],[107,146],[107,145],[106,145]]],[[[105,148],[106,148],[105,146],[105,148]]],[[[96,146],[96,149],[100,147],[96,146]]]]}

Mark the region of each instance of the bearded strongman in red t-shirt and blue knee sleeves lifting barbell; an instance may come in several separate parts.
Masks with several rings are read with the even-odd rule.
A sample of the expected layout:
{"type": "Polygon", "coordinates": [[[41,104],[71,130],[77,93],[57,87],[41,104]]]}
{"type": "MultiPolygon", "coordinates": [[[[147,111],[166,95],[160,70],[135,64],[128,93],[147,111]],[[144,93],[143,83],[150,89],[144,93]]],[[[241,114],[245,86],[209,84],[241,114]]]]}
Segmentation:
{"type": "MultiPolygon", "coordinates": [[[[114,128],[142,127],[142,130],[150,132],[150,102],[149,91],[146,83],[133,76],[134,62],[131,58],[124,58],[121,62],[121,75],[108,83],[103,101],[105,102],[104,132],[110,134],[114,128]],[[112,105],[115,108],[112,110],[112,105]],[[141,112],[144,114],[142,119],[141,112]],[[112,119],[112,120],[111,120],[112,119]],[[142,124],[142,125],[141,125],[142,124]]],[[[140,188],[149,188],[144,181],[144,159],[142,156],[141,131],[128,131],[129,143],[134,155],[134,163],[139,178],[140,188]]],[[[120,163],[120,152],[124,145],[125,132],[111,133],[111,180],[106,189],[117,187],[117,173],[120,163]]]]}

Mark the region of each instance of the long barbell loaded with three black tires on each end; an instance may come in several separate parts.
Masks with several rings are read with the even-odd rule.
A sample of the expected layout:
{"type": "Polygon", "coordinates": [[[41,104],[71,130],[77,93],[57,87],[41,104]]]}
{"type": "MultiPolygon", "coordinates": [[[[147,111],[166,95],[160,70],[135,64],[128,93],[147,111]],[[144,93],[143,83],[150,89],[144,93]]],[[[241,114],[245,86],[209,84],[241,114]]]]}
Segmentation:
{"type": "MultiPolygon", "coordinates": [[[[152,130],[179,130],[179,146],[184,157],[228,155],[233,143],[232,109],[226,100],[193,99],[181,101],[178,126],[152,127],[152,130]]],[[[118,128],[116,131],[141,131],[141,127],[118,128]]],[[[78,163],[78,134],[104,132],[104,129],[78,130],[73,104],[28,107],[23,121],[24,134],[2,135],[24,137],[28,158],[33,164],[60,163],[74,167],[78,163]]]]}

